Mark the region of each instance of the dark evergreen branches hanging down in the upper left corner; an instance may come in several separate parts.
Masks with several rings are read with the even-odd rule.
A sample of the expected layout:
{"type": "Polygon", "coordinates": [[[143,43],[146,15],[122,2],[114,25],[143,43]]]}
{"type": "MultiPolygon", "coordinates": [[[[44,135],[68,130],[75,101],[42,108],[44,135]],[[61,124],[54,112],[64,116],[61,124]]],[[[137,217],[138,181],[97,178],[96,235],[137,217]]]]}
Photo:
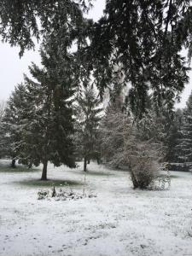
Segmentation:
{"type": "Polygon", "coordinates": [[[81,34],[85,25],[83,12],[89,8],[90,0],[1,0],[0,34],[3,42],[20,47],[20,55],[35,47],[35,38],[46,42],[52,34],[61,44],[67,43],[65,48],[81,34]]]}

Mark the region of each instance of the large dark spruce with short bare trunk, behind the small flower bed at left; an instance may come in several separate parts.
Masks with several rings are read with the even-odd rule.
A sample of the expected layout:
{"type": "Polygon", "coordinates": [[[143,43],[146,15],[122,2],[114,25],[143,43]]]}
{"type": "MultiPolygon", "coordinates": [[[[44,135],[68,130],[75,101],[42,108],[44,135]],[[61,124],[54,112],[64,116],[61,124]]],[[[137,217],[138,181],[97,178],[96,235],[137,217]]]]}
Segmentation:
{"type": "MultiPolygon", "coordinates": [[[[25,76],[24,98],[19,110],[16,109],[16,114],[23,113],[18,114],[20,138],[14,141],[20,163],[29,166],[43,163],[41,178],[46,180],[48,161],[55,166],[75,166],[72,142],[75,84],[71,56],[58,55],[54,46],[49,51],[42,50],[41,56],[44,67],[32,64],[33,79],[25,76]]],[[[18,96],[17,91],[14,94],[18,96]]]]}

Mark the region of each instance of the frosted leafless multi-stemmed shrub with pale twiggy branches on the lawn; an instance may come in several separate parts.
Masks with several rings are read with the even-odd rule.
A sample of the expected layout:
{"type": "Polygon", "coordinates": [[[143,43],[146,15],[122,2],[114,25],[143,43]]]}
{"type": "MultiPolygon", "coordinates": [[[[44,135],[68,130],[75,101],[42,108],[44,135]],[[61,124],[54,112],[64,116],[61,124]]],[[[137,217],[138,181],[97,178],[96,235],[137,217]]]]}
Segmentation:
{"type": "Polygon", "coordinates": [[[120,98],[109,103],[101,127],[103,160],[108,166],[126,167],[134,189],[148,189],[160,176],[161,145],[143,131],[143,124],[134,123],[131,114],[122,111],[120,98]]]}

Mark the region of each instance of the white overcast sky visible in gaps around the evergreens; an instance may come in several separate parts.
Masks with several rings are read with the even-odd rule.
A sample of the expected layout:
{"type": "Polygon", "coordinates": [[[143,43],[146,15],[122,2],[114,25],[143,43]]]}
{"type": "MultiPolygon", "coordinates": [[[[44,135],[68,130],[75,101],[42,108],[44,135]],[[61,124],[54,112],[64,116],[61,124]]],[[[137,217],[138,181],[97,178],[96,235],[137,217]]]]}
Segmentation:
{"type": "MultiPolygon", "coordinates": [[[[98,20],[102,16],[102,10],[105,6],[105,0],[96,0],[94,9],[90,10],[89,17],[98,20]]],[[[0,42],[0,100],[8,99],[15,85],[23,80],[23,73],[28,74],[28,66],[31,62],[40,64],[38,47],[35,51],[26,51],[20,59],[19,48],[10,47],[9,44],[0,42]]],[[[189,73],[190,81],[186,84],[182,94],[181,103],[177,108],[183,108],[191,91],[192,72],[189,73]]]]}

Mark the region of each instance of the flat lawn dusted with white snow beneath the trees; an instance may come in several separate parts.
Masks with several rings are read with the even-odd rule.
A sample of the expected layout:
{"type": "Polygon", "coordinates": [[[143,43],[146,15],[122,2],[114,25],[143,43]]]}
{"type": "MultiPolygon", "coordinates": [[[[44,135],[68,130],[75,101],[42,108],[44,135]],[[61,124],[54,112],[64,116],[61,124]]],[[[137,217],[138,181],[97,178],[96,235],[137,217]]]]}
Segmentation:
{"type": "MultiPolygon", "coordinates": [[[[0,255],[192,255],[191,173],[172,172],[170,190],[141,191],[127,172],[88,168],[85,193],[97,197],[78,201],[38,201],[40,171],[0,168],[0,255]]],[[[48,177],[83,193],[82,169],[49,165],[48,177]]]]}

